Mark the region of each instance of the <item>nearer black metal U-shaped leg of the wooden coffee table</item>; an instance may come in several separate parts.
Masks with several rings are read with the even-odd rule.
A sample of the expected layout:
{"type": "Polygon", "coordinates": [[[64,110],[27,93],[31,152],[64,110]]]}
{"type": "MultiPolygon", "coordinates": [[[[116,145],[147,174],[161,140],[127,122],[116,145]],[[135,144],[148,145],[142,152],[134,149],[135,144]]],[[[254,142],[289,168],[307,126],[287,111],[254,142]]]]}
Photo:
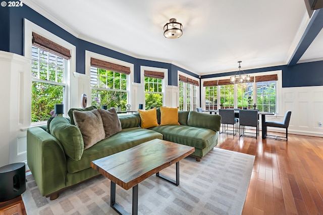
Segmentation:
{"type": "MultiPolygon", "coordinates": [[[[111,181],[110,206],[119,214],[129,214],[116,202],[116,183],[111,181]]],[[[132,188],[132,214],[138,214],[138,184],[132,188]]]]}

